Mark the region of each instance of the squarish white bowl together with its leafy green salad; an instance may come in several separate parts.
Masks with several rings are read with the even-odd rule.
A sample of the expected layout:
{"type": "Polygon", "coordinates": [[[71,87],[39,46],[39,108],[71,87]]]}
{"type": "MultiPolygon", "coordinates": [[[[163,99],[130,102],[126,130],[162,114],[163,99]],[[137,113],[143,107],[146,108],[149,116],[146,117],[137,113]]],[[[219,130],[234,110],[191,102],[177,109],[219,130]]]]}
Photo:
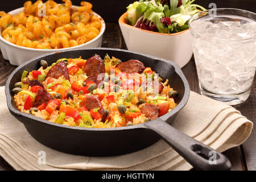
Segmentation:
{"type": "Polygon", "coordinates": [[[140,0],[127,6],[119,26],[130,51],[176,62],[183,67],[192,56],[188,20],[205,10],[195,0],[140,0]]]}

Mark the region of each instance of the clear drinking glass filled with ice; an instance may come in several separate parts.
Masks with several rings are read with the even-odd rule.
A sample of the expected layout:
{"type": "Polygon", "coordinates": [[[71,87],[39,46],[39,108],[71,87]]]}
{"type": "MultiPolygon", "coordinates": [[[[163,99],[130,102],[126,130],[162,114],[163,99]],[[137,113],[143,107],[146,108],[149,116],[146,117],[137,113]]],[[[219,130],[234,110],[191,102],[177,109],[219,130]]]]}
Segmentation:
{"type": "Polygon", "coordinates": [[[256,68],[256,14],[211,9],[189,19],[201,94],[228,105],[250,95],[256,68]]]}

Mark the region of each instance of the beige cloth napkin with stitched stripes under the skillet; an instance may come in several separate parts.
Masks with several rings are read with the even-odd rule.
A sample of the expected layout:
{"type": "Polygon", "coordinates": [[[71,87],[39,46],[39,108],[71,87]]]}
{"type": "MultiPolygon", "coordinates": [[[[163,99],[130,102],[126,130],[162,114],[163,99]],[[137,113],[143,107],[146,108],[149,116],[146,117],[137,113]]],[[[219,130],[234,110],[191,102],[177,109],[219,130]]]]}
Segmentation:
{"type": "MultiPolygon", "coordinates": [[[[0,155],[17,170],[189,170],[192,168],[167,143],[159,140],[144,150],[112,157],[64,154],[37,142],[9,113],[4,87],[0,87],[0,155]],[[40,151],[46,164],[40,164],[40,151]]],[[[188,104],[172,124],[176,129],[222,152],[239,146],[253,123],[221,102],[191,92],[188,104]]]]}

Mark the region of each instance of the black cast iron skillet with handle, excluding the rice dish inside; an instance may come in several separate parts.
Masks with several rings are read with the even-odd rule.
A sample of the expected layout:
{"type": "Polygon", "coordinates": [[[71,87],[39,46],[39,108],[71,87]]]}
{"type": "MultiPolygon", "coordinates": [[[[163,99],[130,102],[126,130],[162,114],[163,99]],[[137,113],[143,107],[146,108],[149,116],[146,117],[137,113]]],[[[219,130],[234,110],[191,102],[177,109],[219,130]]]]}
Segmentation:
{"type": "Polygon", "coordinates": [[[111,48],[78,49],[60,53],[49,53],[27,61],[16,68],[6,82],[5,92],[11,114],[24,124],[32,137],[58,151],[75,155],[114,156],[142,150],[163,138],[197,169],[228,170],[231,167],[229,160],[217,151],[215,151],[217,164],[209,164],[209,152],[214,150],[177,131],[170,125],[189,98],[188,82],[179,66],[172,61],[111,48]],[[60,58],[82,56],[83,59],[88,59],[96,53],[102,58],[108,53],[110,56],[118,57],[122,61],[129,59],[142,61],[145,67],[151,67],[164,80],[166,78],[170,80],[172,88],[179,93],[178,105],[169,113],[152,121],[110,129],[88,129],[59,125],[30,114],[22,113],[17,109],[11,90],[14,88],[15,82],[20,81],[24,70],[32,71],[38,69],[42,59],[51,65],[60,58]]]}

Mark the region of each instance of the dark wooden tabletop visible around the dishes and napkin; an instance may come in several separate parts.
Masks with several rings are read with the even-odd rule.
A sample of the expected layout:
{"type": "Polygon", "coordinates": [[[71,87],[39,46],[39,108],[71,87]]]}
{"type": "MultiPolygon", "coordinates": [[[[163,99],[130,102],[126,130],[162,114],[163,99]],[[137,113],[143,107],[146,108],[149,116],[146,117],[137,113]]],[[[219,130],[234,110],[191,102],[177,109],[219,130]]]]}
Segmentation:
{"type": "MultiPolygon", "coordinates": [[[[104,34],[102,47],[126,49],[126,45],[118,24],[106,24],[106,32],[104,34]]],[[[3,59],[2,54],[0,55],[0,86],[5,85],[7,78],[15,68],[15,66],[10,65],[9,61],[3,59]]],[[[193,56],[189,63],[182,68],[182,71],[189,82],[191,90],[200,93],[193,56]]],[[[248,100],[245,103],[234,107],[240,110],[245,117],[253,121],[254,125],[256,125],[256,79],[254,79],[253,87],[251,88],[251,94],[248,100]]],[[[231,148],[230,150],[225,151],[223,154],[230,159],[232,163],[232,170],[256,170],[255,127],[249,139],[247,139],[245,143],[239,147],[231,148]]],[[[13,170],[13,168],[0,157],[0,170],[13,170]]]]}

